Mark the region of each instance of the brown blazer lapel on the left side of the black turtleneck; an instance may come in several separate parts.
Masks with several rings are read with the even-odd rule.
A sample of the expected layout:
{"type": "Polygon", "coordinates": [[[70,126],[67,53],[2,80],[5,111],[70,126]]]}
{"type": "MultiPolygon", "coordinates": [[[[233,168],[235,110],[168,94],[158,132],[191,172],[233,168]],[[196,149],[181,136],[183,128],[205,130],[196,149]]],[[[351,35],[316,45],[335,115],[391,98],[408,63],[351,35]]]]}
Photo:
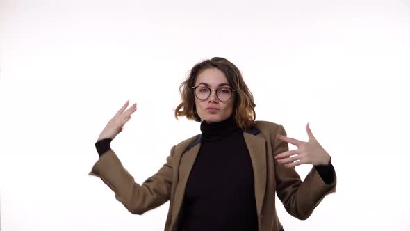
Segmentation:
{"type": "Polygon", "coordinates": [[[195,159],[197,158],[197,154],[199,152],[199,148],[201,147],[200,143],[192,146],[190,150],[182,154],[181,161],[179,162],[179,180],[177,188],[175,189],[174,193],[174,205],[172,207],[172,219],[171,219],[171,230],[174,230],[177,225],[177,220],[179,218],[179,214],[181,212],[183,196],[186,188],[186,182],[188,181],[188,177],[190,175],[190,171],[192,166],[195,163],[195,159]]]}

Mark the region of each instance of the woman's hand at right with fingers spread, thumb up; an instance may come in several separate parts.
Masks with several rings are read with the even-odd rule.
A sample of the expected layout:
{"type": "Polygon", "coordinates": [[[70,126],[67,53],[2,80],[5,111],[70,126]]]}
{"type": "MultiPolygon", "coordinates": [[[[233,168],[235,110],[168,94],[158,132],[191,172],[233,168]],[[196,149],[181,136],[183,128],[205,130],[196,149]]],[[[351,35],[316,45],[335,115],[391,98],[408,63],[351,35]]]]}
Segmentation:
{"type": "Polygon", "coordinates": [[[297,150],[290,150],[277,154],[274,158],[279,164],[285,164],[286,167],[294,167],[300,164],[328,165],[330,162],[330,155],[326,152],[320,143],[313,136],[309,127],[309,122],[306,125],[306,131],[309,136],[309,141],[298,141],[295,138],[289,138],[277,134],[277,138],[282,141],[291,143],[297,146],[297,150]]]}

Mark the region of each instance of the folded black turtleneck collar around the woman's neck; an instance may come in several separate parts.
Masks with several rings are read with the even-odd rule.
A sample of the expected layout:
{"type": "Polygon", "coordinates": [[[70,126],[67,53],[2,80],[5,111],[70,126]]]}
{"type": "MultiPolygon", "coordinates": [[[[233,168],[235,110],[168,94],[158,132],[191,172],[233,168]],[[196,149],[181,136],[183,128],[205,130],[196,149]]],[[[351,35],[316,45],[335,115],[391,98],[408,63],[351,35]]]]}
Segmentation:
{"type": "Polygon", "coordinates": [[[220,122],[207,123],[203,121],[201,122],[201,131],[204,141],[216,141],[233,132],[240,132],[241,129],[236,125],[235,119],[229,117],[220,122]]]}

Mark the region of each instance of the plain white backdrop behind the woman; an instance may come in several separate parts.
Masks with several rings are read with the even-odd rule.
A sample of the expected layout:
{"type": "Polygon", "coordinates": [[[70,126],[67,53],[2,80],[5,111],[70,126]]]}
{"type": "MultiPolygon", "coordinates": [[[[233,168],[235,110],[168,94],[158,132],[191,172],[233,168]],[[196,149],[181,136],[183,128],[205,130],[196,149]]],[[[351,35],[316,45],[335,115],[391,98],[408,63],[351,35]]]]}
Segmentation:
{"type": "Polygon", "coordinates": [[[332,156],[336,193],[308,220],[277,199],[285,230],[410,229],[410,1],[0,0],[1,230],[163,230],[168,203],[130,214],[88,176],[94,143],[137,102],[111,147],[136,182],[156,173],[200,132],[173,109],[213,56],[243,72],[257,120],[304,141],[311,122],[332,156]]]}

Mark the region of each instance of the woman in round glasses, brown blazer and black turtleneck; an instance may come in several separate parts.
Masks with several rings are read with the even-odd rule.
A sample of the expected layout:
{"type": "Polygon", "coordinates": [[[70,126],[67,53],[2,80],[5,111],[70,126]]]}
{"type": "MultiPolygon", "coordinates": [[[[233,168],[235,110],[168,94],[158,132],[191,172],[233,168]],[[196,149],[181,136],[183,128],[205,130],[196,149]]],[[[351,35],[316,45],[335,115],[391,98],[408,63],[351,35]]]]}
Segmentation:
{"type": "Polygon", "coordinates": [[[286,137],[282,125],[254,121],[254,99],[238,68],[225,58],[197,63],[181,84],[175,117],[201,122],[202,134],[174,145],[166,163],[143,184],[123,168],[110,141],[136,111],[129,102],[101,132],[91,175],[101,177],[117,200],[143,214],[170,200],[165,230],[284,230],[276,192],[286,210],[308,218],[336,189],[329,154],[314,138],[286,137]],[[297,150],[288,151],[288,143],[297,150]],[[302,182],[294,167],[312,164],[302,182]]]}

